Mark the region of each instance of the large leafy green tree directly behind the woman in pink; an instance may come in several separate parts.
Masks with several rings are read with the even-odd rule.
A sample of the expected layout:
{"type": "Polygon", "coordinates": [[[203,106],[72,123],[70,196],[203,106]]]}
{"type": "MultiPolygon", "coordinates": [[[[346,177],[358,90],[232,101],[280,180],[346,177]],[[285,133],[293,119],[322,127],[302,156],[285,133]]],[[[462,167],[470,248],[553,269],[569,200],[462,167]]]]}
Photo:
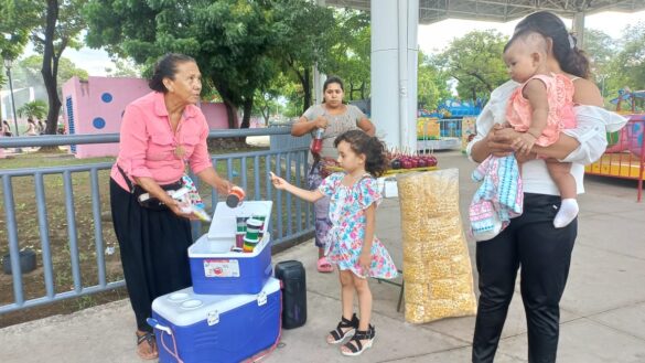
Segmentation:
{"type": "Polygon", "coordinates": [[[272,26],[271,1],[243,0],[90,0],[84,12],[90,46],[130,56],[148,67],[168,52],[184,53],[200,64],[205,94],[215,88],[235,127],[236,108],[248,127],[256,89],[272,74],[280,28],[272,26]]]}

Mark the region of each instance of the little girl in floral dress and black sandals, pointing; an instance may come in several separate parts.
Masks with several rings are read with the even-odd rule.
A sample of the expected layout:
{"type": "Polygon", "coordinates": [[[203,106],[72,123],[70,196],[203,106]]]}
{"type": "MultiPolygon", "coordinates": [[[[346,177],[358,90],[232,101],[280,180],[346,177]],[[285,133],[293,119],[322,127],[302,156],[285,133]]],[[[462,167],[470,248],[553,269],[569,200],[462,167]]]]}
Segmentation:
{"type": "Polygon", "coordinates": [[[342,343],[344,355],[359,355],[372,346],[376,331],[369,323],[372,292],[367,277],[395,278],[397,269],[384,245],[374,235],[376,205],[381,196],[374,177],[386,169],[385,147],[376,137],[362,130],[351,130],[334,140],[338,150],[338,163],[344,172],[325,178],[318,190],[295,188],[271,174],[277,189],[286,190],[305,201],[315,202],[330,196],[332,228],[326,242],[329,260],[337,265],[341,280],[343,316],[326,340],[330,344],[342,343]],[[354,291],[358,295],[358,312],[354,313],[354,291]]]}

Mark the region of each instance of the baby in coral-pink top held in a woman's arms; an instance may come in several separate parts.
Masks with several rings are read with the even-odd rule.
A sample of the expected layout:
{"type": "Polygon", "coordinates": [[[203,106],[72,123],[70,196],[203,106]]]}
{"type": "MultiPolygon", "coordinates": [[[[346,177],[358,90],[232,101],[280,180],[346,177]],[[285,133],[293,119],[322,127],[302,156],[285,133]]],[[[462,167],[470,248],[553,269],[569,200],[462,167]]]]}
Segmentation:
{"type": "MultiPolygon", "coordinates": [[[[576,127],[572,76],[548,72],[548,47],[542,35],[528,32],[514,36],[504,49],[510,77],[523,83],[508,99],[506,120],[516,131],[523,132],[514,147],[524,154],[530,153],[534,145],[552,145],[560,130],[576,127]]],[[[576,179],[570,173],[571,163],[555,159],[545,161],[562,200],[553,220],[553,226],[561,228],[578,215],[576,179]]]]}

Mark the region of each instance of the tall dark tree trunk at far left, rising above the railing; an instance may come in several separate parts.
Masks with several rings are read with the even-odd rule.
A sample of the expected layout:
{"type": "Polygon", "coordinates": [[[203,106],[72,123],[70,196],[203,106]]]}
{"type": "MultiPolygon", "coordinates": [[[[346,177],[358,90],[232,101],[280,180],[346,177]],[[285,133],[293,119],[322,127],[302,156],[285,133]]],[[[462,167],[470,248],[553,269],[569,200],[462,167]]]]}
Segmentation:
{"type": "MultiPolygon", "coordinates": [[[[45,134],[56,135],[58,125],[58,111],[61,110],[61,99],[56,90],[56,75],[58,73],[58,57],[54,54],[54,32],[58,19],[58,1],[47,0],[47,18],[45,26],[45,44],[43,52],[43,67],[41,74],[47,89],[47,99],[50,110],[47,113],[47,122],[45,134]]],[[[63,50],[61,50],[61,53],[63,50]]],[[[60,55],[58,55],[60,56],[60,55]]]]}

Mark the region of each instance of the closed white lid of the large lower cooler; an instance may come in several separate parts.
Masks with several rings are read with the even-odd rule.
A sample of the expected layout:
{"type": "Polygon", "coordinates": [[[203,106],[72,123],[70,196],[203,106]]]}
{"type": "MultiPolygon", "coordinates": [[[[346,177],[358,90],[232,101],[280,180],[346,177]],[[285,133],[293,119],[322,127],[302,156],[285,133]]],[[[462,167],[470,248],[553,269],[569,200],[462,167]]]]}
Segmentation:
{"type": "Polygon", "coordinates": [[[262,290],[254,295],[197,295],[192,287],[187,287],[154,299],[152,310],[176,327],[186,327],[214,319],[249,302],[264,305],[266,297],[279,289],[280,280],[273,277],[269,277],[262,290]]]}

